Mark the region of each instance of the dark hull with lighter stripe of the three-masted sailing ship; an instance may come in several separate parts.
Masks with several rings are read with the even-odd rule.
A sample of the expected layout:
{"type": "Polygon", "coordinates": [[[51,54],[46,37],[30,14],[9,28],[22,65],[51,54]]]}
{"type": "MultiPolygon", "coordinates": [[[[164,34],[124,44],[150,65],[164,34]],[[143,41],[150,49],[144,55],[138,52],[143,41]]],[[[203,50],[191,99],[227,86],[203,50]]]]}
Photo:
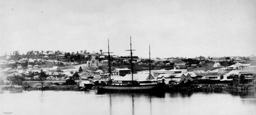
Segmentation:
{"type": "Polygon", "coordinates": [[[99,92],[154,92],[162,89],[159,84],[147,86],[118,86],[97,84],[97,88],[99,92]]]}

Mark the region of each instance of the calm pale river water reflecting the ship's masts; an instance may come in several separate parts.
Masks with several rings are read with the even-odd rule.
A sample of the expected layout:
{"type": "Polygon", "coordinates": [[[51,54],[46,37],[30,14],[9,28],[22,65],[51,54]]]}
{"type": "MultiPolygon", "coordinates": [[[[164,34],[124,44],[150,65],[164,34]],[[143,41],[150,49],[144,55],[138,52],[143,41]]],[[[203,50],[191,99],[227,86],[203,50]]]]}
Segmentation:
{"type": "Polygon", "coordinates": [[[0,90],[0,112],[18,115],[256,114],[256,94],[255,91],[151,95],[0,90]]]}

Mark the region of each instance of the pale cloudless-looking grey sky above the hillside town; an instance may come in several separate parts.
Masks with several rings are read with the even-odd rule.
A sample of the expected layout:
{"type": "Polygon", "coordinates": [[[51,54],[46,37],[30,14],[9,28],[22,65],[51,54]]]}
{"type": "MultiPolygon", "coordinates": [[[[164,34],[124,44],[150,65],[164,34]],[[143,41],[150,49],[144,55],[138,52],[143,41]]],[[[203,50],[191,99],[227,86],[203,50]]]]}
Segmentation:
{"type": "Polygon", "coordinates": [[[0,55],[108,50],[149,57],[256,55],[253,0],[0,0],[0,55]]]}

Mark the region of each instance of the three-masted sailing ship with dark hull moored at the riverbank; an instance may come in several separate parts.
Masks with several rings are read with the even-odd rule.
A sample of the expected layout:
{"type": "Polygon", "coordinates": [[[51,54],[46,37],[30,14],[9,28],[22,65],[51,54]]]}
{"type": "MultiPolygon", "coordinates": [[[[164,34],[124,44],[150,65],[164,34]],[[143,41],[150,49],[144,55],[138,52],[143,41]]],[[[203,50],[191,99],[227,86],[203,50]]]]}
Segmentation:
{"type": "MultiPolygon", "coordinates": [[[[131,37],[130,37],[131,42],[131,37]]],[[[109,68],[109,79],[108,82],[99,82],[94,83],[97,86],[98,91],[103,92],[144,92],[144,91],[157,91],[163,85],[163,80],[157,80],[151,75],[151,65],[149,67],[149,75],[138,75],[134,73],[134,62],[132,54],[134,50],[132,50],[132,44],[130,43],[131,49],[126,50],[130,51],[131,60],[131,71],[129,74],[125,76],[115,76],[114,79],[111,79],[111,60],[110,60],[110,53],[109,52],[109,41],[108,41],[108,68],[109,68]]]]}

